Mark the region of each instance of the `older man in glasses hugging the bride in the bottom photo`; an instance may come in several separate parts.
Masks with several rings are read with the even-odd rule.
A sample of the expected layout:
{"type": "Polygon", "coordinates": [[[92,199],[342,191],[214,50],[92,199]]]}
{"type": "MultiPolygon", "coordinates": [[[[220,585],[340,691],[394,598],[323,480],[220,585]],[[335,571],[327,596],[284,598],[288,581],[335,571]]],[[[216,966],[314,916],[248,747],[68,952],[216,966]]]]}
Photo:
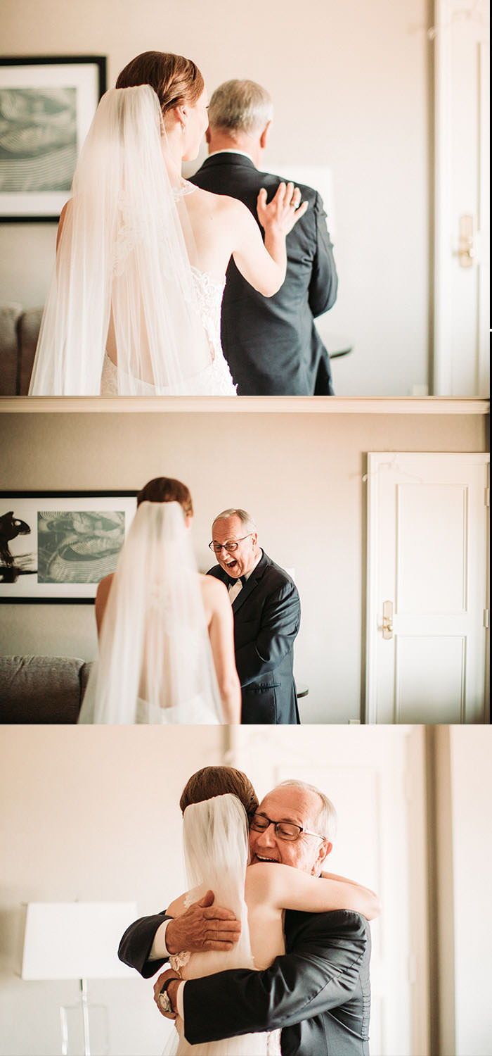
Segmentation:
{"type": "MultiPolygon", "coordinates": [[[[268,793],[251,819],[252,864],[268,860],[320,875],[333,824],[334,808],[318,789],[286,781],[268,793]]],[[[237,941],[237,922],[206,901],[176,920],[157,913],[136,921],[121,940],[121,960],[147,979],[172,953],[228,948],[237,941]]],[[[263,972],[232,969],[185,983],[176,973],[164,973],[154,987],[159,1011],[165,987],[191,1044],[281,1027],[282,1056],[369,1056],[366,919],[348,910],[288,910],[284,935],[284,956],[263,972]]]]}

